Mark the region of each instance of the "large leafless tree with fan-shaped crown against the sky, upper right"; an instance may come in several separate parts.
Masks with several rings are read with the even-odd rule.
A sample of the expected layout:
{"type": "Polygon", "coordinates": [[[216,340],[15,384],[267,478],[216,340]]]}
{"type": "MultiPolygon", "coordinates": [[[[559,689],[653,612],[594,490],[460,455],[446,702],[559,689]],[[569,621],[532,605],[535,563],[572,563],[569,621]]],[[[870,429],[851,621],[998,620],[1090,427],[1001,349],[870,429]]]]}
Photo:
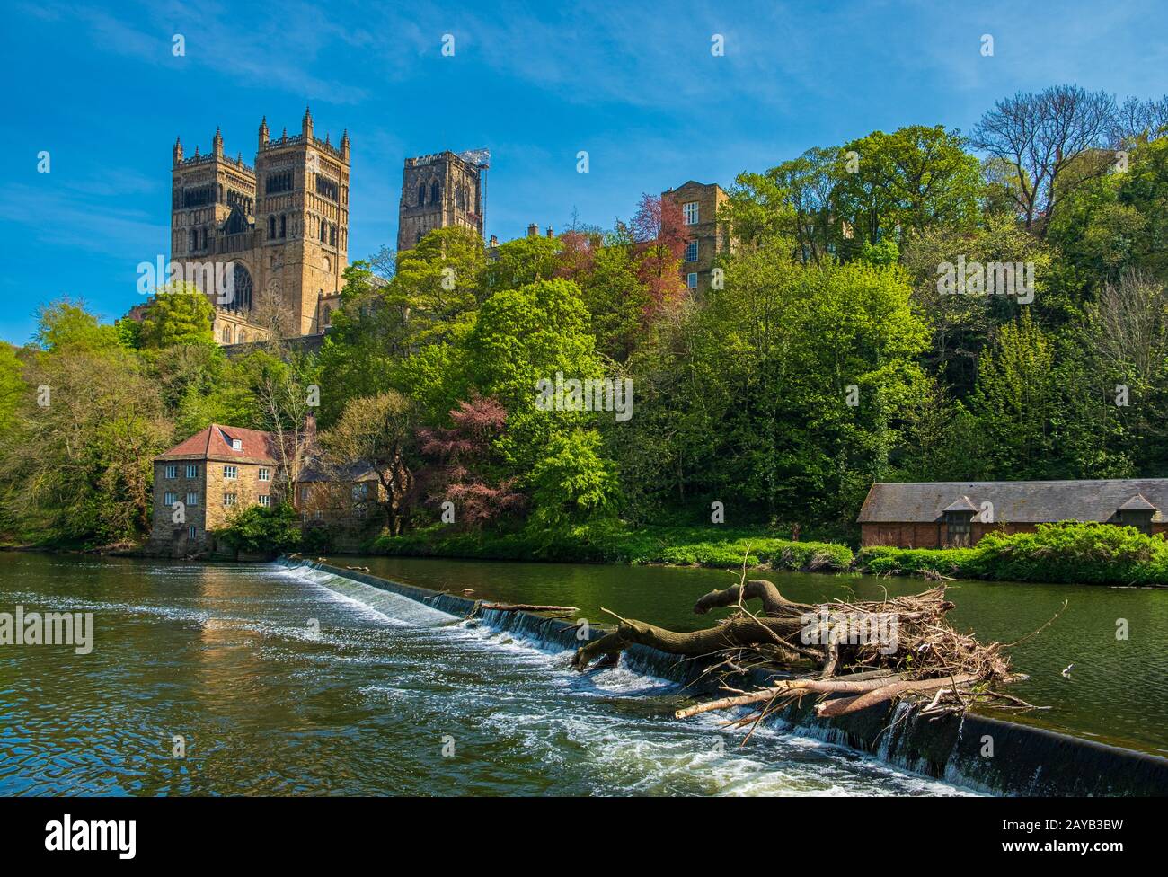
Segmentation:
{"type": "Polygon", "coordinates": [[[972,142],[1013,172],[1027,230],[1045,236],[1059,202],[1112,167],[1115,100],[1103,91],[1054,85],[999,100],[972,142]]]}

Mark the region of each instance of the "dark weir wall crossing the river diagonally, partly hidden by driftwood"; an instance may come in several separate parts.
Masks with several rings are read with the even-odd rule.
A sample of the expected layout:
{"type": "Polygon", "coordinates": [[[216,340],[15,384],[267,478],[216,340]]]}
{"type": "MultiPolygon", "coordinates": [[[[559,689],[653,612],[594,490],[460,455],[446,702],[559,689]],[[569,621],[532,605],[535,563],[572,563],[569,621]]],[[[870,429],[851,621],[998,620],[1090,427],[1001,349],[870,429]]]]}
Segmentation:
{"type": "MultiPolygon", "coordinates": [[[[300,558],[280,557],[283,566],[312,568],[353,582],[401,594],[456,617],[468,615],[475,600],[425,587],[391,582],[367,572],[346,570],[300,558]]],[[[480,610],[486,626],[564,649],[578,648],[571,621],[530,612],[480,610]]],[[[590,626],[589,640],[607,631],[590,626]]],[[[688,685],[693,694],[714,694],[702,677],[708,666],[646,646],[631,646],[620,659],[646,675],[688,685]]],[[[771,684],[780,674],[755,670],[742,676],[742,687],[771,684]]],[[[722,692],[724,694],[724,692],[722,692]]],[[[839,718],[814,715],[815,698],[776,711],[766,722],[826,743],[858,750],[906,770],[954,785],[1004,795],[1166,795],[1168,759],[1094,743],[1079,737],[1002,719],[965,716],[920,717],[905,703],[878,705],[839,718]]]]}

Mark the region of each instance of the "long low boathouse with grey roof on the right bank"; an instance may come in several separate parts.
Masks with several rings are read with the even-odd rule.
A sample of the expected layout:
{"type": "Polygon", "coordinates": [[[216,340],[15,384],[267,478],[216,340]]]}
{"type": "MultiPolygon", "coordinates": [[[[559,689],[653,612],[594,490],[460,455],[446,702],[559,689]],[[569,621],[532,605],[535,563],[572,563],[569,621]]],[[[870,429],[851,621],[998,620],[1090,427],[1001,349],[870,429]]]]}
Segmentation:
{"type": "Polygon", "coordinates": [[[1168,478],[1098,481],[940,481],[871,486],[860,544],[966,548],[990,530],[1031,533],[1040,523],[1094,521],[1168,531],[1168,478]]]}

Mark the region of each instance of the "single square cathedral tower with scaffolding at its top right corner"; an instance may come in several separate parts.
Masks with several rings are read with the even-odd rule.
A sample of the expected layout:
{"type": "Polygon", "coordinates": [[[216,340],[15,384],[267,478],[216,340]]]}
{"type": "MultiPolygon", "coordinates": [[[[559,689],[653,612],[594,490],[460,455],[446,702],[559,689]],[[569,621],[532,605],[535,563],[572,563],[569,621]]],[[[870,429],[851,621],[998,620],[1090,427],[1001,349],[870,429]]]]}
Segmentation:
{"type": "Polygon", "coordinates": [[[482,236],[491,153],[450,149],[406,159],[397,211],[397,250],[409,250],[429,231],[450,227],[482,236]]]}

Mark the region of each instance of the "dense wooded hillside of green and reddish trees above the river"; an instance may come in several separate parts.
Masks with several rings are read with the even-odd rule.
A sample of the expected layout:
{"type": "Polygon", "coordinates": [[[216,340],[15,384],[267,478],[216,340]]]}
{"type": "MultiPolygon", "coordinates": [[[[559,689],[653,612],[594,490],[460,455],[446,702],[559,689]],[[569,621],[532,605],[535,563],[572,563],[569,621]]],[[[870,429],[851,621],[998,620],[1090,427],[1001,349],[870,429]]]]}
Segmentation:
{"type": "MultiPolygon", "coordinates": [[[[746,170],[700,290],[668,197],[496,248],[439,229],[349,265],[315,353],[228,356],[183,288],[112,325],[55,301],[0,347],[0,537],[140,541],[154,455],[213,422],[296,441],[315,402],[338,471],[390,475],[368,535],[390,554],[729,565],[749,544],[843,569],[802,534],[854,545],[875,480],[1162,475],[1166,123],[1168,99],[1058,86],[968,134],[746,170]],[[1023,123],[1049,148],[1011,154],[1023,123]],[[1022,286],[940,283],[989,263],[1022,286]]],[[[1010,563],[990,571],[1029,575],[1010,563]]]]}

